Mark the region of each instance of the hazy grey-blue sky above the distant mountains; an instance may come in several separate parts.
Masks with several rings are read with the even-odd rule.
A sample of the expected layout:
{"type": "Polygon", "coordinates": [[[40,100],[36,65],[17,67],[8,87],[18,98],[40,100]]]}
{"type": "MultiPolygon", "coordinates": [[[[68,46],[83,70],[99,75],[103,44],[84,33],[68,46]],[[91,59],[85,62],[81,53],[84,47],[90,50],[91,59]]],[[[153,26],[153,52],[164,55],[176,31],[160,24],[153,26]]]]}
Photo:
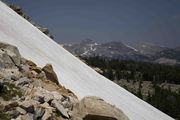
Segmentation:
{"type": "Polygon", "coordinates": [[[59,43],[148,42],[180,46],[180,0],[7,0],[59,43]]]}

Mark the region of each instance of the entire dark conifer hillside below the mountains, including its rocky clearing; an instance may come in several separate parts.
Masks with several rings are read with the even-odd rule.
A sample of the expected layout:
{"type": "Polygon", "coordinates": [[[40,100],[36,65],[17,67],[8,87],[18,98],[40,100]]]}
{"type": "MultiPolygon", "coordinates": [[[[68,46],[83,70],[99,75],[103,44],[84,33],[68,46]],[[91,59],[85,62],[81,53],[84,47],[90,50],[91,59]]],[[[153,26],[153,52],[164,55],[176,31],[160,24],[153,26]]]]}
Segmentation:
{"type": "Polygon", "coordinates": [[[99,68],[102,75],[139,98],[173,118],[180,119],[180,88],[176,87],[180,84],[179,65],[168,66],[136,61],[107,60],[100,57],[81,59],[91,67],[99,68]],[[126,81],[125,84],[124,81],[126,81]],[[166,89],[162,86],[166,86],[166,89]],[[175,86],[176,91],[170,86],[175,86]],[[145,91],[147,95],[144,96],[145,91]]]}

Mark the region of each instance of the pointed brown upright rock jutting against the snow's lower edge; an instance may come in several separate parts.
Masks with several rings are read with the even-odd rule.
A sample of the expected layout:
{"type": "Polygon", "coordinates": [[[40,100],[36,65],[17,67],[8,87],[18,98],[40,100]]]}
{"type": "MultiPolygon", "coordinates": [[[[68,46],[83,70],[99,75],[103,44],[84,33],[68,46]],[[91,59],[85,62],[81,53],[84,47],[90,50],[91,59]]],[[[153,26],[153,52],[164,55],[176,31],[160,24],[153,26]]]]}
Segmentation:
{"type": "Polygon", "coordinates": [[[44,67],[42,68],[42,70],[45,72],[46,78],[47,78],[48,80],[51,80],[51,81],[53,81],[54,83],[56,83],[57,85],[59,85],[57,75],[56,75],[56,73],[54,72],[53,67],[52,67],[51,64],[46,64],[46,66],[44,66],[44,67]]]}

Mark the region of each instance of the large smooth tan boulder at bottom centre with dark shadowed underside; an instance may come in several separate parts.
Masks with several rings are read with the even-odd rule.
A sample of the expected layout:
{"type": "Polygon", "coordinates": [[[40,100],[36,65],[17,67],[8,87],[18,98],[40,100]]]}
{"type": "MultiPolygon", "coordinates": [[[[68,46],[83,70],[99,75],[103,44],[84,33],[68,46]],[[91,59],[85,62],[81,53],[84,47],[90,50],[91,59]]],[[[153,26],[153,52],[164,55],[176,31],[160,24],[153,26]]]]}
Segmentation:
{"type": "Polygon", "coordinates": [[[129,120],[118,108],[98,97],[85,97],[74,106],[72,116],[84,120],[129,120]]]}

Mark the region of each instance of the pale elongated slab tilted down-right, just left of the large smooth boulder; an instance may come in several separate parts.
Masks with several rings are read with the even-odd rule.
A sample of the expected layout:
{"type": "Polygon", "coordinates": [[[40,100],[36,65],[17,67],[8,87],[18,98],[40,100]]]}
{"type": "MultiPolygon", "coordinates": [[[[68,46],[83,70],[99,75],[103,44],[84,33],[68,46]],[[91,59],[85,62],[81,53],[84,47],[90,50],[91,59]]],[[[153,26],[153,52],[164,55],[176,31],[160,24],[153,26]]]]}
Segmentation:
{"type": "Polygon", "coordinates": [[[69,118],[67,111],[64,109],[64,107],[57,100],[53,100],[51,102],[51,105],[53,107],[55,107],[62,114],[63,117],[69,118]]]}

